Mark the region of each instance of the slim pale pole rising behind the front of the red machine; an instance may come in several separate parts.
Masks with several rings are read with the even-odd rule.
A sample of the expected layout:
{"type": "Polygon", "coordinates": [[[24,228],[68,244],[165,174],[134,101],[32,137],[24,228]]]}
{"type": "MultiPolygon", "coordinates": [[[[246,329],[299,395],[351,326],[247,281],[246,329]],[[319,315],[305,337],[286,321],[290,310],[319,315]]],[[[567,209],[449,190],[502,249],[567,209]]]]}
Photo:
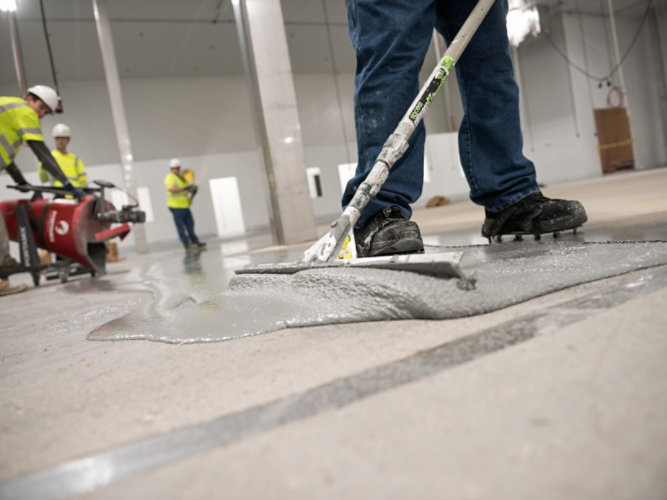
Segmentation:
{"type": "MultiPolygon", "coordinates": [[[[123,167],[123,180],[125,189],[135,199],[137,197],[137,187],[134,180],[134,170],[132,167],[132,148],[130,146],[130,135],[127,129],[127,120],[125,118],[125,107],[123,105],[123,95],[120,88],[120,78],[118,77],[118,67],[116,65],[116,54],[111,37],[111,25],[109,16],[106,12],[106,0],[93,0],[93,10],[95,12],[95,25],[97,26],[97,36],[100,40],[100,50],[102,52],[102,63],[104,64],[104,75],[109,90],[109,100],[111,101],[111,114],[113,116],[116,128],[116,141],[118,143],[118,153],[123,167]]],[[[148,252],[146,242],[146,232],[142,224],[135,224],[133,228],[134,242],[138,253],[148,252]]]]}

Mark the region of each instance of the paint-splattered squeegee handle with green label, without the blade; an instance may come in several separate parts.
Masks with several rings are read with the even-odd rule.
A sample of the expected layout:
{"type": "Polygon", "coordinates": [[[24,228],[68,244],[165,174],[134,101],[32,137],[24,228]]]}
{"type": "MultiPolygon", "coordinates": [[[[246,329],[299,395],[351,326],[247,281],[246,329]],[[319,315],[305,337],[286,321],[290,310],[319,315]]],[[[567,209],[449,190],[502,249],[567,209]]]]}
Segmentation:
{"type": "Polygon", "coordinates": [[[445,83],[454,64],[468,46],[477,28],[491,9],[495,0],[479,0],[461,26],[452,43],[447,47],[438,65],[412,102],[394,132],[382,147],[373,168],[366,176],[343,214],[331,224],[331,229],[303,255],[302,262],[329,262],[336,258],[348,233],[354,228],[371,198],[376,196],[389,176],[389,171],[408,149],[408,140],[422,121],[424,113],[445,83]]]}

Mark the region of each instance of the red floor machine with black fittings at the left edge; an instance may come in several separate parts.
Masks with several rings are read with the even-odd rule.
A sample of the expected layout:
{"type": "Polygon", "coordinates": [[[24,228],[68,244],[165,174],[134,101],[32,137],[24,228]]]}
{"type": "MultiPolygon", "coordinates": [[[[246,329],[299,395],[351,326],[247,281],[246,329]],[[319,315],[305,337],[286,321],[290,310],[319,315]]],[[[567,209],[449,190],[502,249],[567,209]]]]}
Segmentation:
{"type": "Polygon", "coordinates": [[[32,192],[31,199],[0,201],[0,213],[5,219],[9,239],[19,244],[21,267],[10,272],[0,271],[0,278],[29,272],[35,286],[42,271],[55,274],[65,283],[71,274],[106,273],[108,241],[121,240],[130,232],[129,223],[145,222],[146,214],[137,210],[138,203],[116,210],[104,198],[104,190],[116,188],[106,181],[95,181],[99,187],[84,188],[80,200],[66,198],[61,188],[46,186],[8,186],[21,192],[32,192]],[[50,193],[53,198],[43,195],[50,193]],[[40,262],[37,248],[56,255],[54,263],[40,262]],[[4,274],[3,274],[4,273],[4,274]]]}

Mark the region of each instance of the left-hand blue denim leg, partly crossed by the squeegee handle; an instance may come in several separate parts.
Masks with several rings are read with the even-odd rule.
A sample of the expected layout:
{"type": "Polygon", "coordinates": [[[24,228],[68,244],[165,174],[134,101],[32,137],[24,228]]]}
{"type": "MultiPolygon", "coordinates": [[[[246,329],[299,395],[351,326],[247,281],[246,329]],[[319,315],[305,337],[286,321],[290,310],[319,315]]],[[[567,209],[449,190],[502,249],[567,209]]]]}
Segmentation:
{"type": "MultiPolygon", "coordinates": [[[[419,70],[431,41],[435,16],[434,0],[346,0],[346,5],[357,57],[354,114],[358,164],[356,175],[343,193],[343,207],[417,96],[419,70]]],[[[381,191],[368,203],[357,227],[388,205],[399,206],[406,217],[411,215],[410,204],[422,192],[424,139],[422,123],[381,191]]]]}

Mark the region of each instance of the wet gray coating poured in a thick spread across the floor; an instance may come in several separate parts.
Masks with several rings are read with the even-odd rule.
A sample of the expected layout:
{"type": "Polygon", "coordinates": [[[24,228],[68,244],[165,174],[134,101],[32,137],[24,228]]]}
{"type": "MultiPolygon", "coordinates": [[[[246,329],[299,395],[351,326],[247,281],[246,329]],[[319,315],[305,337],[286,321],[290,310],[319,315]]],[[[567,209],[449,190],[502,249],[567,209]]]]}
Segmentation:
{"type": "Polygon", "coordinates": [[[469,281],[476,281],[472,289],[461,286],[459,279],[365,268],[244,274],[232,278],[227,290],[211,296],[155,282],[150,307],[102,325],[88,339],[211,342],[286,327],[451,319],[667,264],[667,242],[662,241],[524,242],[456,250],[463,252],[462,271],[469,281]]]}

